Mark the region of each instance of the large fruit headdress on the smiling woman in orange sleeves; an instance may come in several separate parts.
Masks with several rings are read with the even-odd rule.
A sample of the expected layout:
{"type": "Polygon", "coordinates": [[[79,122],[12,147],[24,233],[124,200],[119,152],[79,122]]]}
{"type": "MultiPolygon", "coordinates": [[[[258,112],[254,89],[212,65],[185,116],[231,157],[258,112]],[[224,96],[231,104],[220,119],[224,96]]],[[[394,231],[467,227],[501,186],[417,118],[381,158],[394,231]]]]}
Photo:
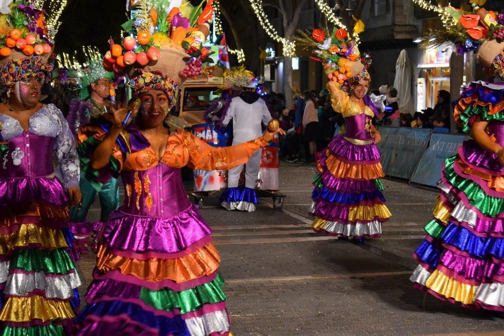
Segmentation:
{"type": "Polygon", "coordinates": [[[130,36],[122,45],[111,41],[103,67],[118,76],[127,72],[136,94],[163,90],[173,98],[183,78],[202,74],[203,64],[212,61],[203,43],[213,0],[203,7],[205,1],[193,7],[187,0],[130,0],[131,20],[122,25],[130,36]]]}

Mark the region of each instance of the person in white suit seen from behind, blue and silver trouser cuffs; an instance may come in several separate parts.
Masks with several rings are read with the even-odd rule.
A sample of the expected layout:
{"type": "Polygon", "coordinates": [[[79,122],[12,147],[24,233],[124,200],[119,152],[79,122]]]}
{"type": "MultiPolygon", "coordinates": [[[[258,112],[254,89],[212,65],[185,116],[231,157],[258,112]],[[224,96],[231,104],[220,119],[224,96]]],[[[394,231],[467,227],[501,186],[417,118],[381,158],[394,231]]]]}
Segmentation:
{"type": "MultiPolygon", "coordinates": [[[[264,100],[256,93],[258,80],[250,71],[235,73],[226,77],[227,86],[239,88],[242,92],[231,99],[229,109],[222,124],[227,126],[233,121],[233,145],[250,141],[262,133],[263,124],[272,118],[264,100]]],[[[227,174],[227,188],[220,202],[227,210],[256,211],[256,181],[261,165],[261,154],[255,152],[245,165],[245,188],[240,190],[238,182],[243,164],[230,169],[227,174]]]]}

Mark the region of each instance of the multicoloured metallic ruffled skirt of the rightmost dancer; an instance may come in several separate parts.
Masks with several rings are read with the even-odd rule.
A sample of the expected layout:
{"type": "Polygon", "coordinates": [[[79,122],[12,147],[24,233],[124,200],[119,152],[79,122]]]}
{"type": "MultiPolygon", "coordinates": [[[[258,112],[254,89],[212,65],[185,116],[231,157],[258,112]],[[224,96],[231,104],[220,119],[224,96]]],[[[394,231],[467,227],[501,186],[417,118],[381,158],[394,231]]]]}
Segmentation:
{"type": "Polygon", "coordinates": [[[467,140],[445,160],[441,194],[410,280],[437,298],[504,311],[504,172],[467,140]]]}

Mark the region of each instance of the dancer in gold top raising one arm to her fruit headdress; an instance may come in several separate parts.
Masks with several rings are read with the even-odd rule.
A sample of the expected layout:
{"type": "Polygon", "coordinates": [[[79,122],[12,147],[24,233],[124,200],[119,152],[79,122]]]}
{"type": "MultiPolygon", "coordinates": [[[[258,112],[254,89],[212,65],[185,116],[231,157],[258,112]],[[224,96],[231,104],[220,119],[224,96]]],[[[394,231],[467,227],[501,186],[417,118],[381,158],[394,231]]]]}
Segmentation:
{"type": "MultiPolygon", "coordinates": [[[[365,68],[370,60],[360,56],[342,28],[332,34],[316,29],[303,33],[299,41],[324,63],[333,109],[343,115],[346,125],[345,134],[334,137],[317,154],[319,172],[313,179],[309,209],[317,218],[311,226],[315,231],[358,241],[380,237],[382,222],[391,214],[379,180],[384,177],[376,148],[381,136],[371,122],[380,118],[380,112],[366,95],[370,78],[365,68]]],[[[383,105],[383,99],[379,101],[383,105]]]]}

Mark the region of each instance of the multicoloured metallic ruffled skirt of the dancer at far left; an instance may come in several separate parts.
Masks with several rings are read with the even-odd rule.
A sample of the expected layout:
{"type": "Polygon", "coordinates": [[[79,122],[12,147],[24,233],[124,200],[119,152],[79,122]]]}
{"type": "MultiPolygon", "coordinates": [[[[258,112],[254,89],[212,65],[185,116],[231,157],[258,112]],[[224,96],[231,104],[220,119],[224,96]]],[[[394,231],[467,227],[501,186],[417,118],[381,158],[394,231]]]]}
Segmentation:
{"type": "Polygon", "coordinates": [[[3,335],[70,331],[83,281],[55,177],[0,178],[0,320],[3,335]]]}

